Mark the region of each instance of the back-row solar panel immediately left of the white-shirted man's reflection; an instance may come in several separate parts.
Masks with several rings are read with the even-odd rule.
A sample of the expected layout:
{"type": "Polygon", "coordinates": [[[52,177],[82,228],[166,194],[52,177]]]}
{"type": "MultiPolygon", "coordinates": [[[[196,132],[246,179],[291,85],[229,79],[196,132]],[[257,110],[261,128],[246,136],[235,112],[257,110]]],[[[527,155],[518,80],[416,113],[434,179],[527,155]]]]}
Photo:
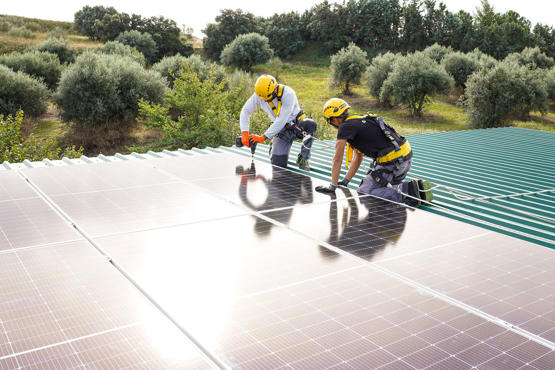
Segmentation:
{"type": "Polygon", "coordinates": [[[103,164],[54,168],[57,174],[50,174],[49,168],[31,169],[24,174],[93,237],[245,214],[143,163],[107,164],[108,168],[103,164]]]}

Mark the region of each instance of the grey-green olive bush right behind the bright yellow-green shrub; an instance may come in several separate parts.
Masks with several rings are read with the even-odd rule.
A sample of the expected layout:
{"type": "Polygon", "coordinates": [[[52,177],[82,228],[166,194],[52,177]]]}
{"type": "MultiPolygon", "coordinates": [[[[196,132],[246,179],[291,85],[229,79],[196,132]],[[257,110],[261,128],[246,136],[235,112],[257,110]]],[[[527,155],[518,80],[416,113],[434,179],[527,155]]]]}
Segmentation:
{"type": "MultiPolygon", "coordinates": [[[[152,69],[159,72],[169,82],[169,87],[173,89],[173,84],[176,78],[179,77],[181,68],[189,65],[193,68],[196,74],[199,75],[201,81],[204,81],[206,75],[211,69],[213,71],[216,83],[225,80],[225,69],[216,63],[206,62],[199,55],[193,54],[190,57],[183,57],[180,54],[173,55],[172,57],[164,57],[160,62],[155,63],[152,69]],[[170,72],[171,71],[171,72],[170,72]]],[[[225,83],[225,88],[228,88],[225,83]]]]}

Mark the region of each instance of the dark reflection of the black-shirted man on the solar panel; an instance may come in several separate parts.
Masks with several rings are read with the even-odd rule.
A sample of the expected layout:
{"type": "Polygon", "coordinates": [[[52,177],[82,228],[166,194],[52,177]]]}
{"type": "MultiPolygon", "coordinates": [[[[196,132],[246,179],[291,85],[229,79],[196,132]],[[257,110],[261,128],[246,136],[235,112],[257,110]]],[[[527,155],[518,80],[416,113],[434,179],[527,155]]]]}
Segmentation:
{"type": "MultiPolygon", "coordinates": [[[[341,188],[343,191],[347,189],[341,188]]],[[[335,196],[332,196],[332,199],[335,196]]],[[[335,199],[334,199],[335,200],[335,199]]],[[[352,255],[371,261],[387,247],[394,247],[405,230],[407,207],[384,199],[366,196],[358,199],[368,214],[359,209],[353,198],[347,207],[337,210],[337,202],[330,203],[330,237],[328,244],[352,255]]],[[[339,257],[337,252],[320,246],[322,256],[339,257]]]]}

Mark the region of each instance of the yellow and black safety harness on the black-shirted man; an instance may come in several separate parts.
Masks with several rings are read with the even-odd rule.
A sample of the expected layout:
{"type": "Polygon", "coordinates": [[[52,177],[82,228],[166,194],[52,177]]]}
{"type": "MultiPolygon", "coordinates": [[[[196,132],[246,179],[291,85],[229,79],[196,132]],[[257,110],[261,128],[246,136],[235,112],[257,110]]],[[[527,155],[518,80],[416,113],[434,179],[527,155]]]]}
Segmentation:
{"type": "MultiPolygon", "coordinates": [[[[386,138],[390,140],[390,144],[393,146],[393,150],[391,150],[391,147],[380,150],[377,153],[372,167],[375,167],[376,164],[399,164],[412,158],[412,149],[411,145],[408,144],[408,140],[405,136],[397,134],[397,131],[395,131],[393,126],[387,124],[383,117],[379,117],[377,114],[372,112],[367,112],[365,115],[350,115],[345,120],[360,118],[367,119],[370,123],[379,126],[386,138]],[[395,133],[399,137],[400,141],[395,140],[391,132],[395,133]]],[[[362,120],[362,122],[366,123],[365,120],[362,120]]],[[[352,145],[347,143],[347,159],[345,162],[345,168],[349,167],[349,163],[352,160],[353,149],[361,153],[360,150],[353,148],[352,145]]],[[[375,183],[379,186],[387,186],[387,184],[395,185],[400,183],[401,180],[405,178],[405,175],[398,176],[398,178],[396,178],[393,176],[392,171],[386,169],[372,170],[370,174],[372,179],[374,179],[375,183]]]]}

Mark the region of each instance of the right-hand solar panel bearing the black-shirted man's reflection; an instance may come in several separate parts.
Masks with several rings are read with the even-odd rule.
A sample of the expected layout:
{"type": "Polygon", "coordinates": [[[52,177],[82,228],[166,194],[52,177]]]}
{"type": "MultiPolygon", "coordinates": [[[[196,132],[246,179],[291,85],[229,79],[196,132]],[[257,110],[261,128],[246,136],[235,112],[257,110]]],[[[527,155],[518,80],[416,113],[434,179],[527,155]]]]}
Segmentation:
{"type": "Polygon", "coordinates": [[[555,340],[555,250],[372,197],[295,207],[291,213],[264,214],[555,340]]]}

